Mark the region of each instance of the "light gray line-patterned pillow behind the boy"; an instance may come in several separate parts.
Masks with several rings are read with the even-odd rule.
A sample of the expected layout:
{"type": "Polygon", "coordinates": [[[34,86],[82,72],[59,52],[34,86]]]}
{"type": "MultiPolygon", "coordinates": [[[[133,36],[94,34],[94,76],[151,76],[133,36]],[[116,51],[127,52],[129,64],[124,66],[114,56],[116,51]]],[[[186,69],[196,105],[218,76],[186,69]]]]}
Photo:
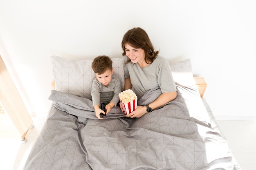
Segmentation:
{"type": "MultiPolygon", "coordinates": [[[[92,70],[92,60],[69,60],[51,56],[55,89],[57,91],[91,99],[92,81],[96,77],[92,70]]],[[[120,79],[124,89],[124,59],[112,59],[114,75],[120,79]]]]}

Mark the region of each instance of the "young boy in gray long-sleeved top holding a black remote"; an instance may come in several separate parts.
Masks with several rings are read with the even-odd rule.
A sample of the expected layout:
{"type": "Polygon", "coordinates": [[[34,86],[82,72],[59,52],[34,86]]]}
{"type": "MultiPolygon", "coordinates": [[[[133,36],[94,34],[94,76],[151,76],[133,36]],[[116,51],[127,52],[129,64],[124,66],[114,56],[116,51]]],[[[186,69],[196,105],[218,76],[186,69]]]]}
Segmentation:
{"type": "Polygon", "coordinates": [[[92,82],[92,103],[96,116],[103,119],[100,113],[108,114],[110,109],[119,102],[118,94],[121,93],[121,83],[119,78],[113,75],[112,60],[106,55],[94,58],[92,70],[96,75],[92,82]],[[106,113],[101,110],[101,103],[107,103],[106,113]]]}

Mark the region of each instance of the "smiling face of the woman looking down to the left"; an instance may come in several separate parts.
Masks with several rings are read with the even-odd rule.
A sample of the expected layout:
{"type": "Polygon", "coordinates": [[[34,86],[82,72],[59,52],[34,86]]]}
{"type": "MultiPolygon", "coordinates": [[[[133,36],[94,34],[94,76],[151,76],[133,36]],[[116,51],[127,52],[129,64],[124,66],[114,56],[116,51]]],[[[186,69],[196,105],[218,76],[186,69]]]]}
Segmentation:
{"type": "Polygon", "coordinates": [[[129,44],[124,45],[125,53],[133,63],[143,63],[145,60],[144,49],[132,47],[129,44]]]}

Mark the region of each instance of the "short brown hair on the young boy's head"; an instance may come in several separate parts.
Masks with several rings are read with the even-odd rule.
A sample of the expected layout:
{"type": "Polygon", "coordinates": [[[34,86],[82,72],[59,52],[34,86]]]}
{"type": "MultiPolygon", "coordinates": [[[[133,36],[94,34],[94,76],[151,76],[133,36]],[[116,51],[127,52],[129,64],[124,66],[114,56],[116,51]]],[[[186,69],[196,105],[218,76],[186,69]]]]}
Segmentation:
{"type": "Polygon", "coordinates": [[[112,71],[112,60],[106,55],[99,55],[92,61],[92,70],[94,73],[103,74],[107,70],[112,71]]]}

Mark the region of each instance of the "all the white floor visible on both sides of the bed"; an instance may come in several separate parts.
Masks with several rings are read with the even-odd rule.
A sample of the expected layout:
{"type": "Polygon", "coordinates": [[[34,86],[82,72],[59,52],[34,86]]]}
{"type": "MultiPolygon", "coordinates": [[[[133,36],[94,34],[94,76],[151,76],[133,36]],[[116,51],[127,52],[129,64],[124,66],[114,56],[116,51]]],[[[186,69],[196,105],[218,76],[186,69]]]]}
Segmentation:
{"type": "MultiPolygon", "coordinates": [[[[28,154],[45,122],[45,117],[33,118],[22,143],[8,115],[0,114],[0,170],[22,170],[28,154]]],[[[231,151],[242,170],[256,167],[256,121],[217,121],[229,142],[231,151]]]]}

